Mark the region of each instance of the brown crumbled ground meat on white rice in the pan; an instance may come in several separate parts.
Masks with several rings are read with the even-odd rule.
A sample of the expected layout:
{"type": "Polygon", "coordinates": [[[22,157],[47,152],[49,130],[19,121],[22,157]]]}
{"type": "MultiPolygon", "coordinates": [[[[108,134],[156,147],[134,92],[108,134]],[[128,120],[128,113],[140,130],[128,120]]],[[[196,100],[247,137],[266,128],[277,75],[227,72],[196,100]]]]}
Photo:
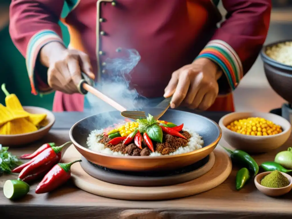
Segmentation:
{"type": "MultiPolygon", "coordinates": [[[[180,133],[183,136],[185,136],[187,139],[191,138],[190,133],[188,133],[187,131],[180,131],[180,133]]],[[[120,151],[123,154],[129,154],[131,156],[149,156],[151,153],[144,141],[142,141],[143,150],[141,150],[134,143],[131,143],[129,145],[124,145],[123,143],[112,145],[108,143],[110,140],[111,139],[108,136],[104,135],[102,136],[99,142],[104,144],[105,147],[109,148],[112,151],[115,151],[115,152],[120,151]]],[[[163,143],[153,142],[153,145],[154,145],[155,151],[165,155],[171,152],[175,152],[179,147],[186,146],[187,143],[188,141],[183,138],[178,138],[172,135],[164,134],[163,143]]]]}

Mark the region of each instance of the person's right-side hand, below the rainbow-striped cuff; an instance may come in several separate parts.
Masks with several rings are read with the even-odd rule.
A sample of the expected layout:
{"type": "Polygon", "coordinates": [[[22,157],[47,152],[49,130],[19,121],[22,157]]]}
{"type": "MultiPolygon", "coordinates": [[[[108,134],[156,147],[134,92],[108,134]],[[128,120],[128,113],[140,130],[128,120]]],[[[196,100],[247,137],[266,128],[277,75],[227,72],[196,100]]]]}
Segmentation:
{"type": "Polygon", "coordinates": [[[206,110],[218,95],[217,80],[221,75],[222,72],[218,71],[213,61],[198,58],[172,73],[164,97],[172,95],[171,108],[183,105],[190,109],[206,110]]]}

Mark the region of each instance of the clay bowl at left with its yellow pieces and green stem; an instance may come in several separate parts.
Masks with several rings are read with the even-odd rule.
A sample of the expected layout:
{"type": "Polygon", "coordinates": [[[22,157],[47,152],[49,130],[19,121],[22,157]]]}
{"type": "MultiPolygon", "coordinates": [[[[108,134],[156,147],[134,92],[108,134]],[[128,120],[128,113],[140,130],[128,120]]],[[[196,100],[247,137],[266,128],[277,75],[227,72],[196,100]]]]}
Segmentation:
{"type": "Polygon", "coordinates": [[[15,94],[6,94],[5,106],[0,104],[0,144],[26,145],[41,139],[55,122],[53,113],[47,109],[22,106],[15,94]]]}

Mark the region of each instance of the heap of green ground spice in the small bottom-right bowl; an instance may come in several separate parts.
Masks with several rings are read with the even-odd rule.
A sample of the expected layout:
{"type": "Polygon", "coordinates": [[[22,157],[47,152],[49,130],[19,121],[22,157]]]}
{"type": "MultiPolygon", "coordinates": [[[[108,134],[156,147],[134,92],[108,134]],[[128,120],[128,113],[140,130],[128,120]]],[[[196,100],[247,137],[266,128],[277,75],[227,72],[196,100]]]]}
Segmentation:
{"type": "Polygon", "coordinates": [[[275,170],[272,173],[266,175],[260,180],[260,185],[269,188],[282,188],[289,185],[289,180],[279,171],[275,170]]]}

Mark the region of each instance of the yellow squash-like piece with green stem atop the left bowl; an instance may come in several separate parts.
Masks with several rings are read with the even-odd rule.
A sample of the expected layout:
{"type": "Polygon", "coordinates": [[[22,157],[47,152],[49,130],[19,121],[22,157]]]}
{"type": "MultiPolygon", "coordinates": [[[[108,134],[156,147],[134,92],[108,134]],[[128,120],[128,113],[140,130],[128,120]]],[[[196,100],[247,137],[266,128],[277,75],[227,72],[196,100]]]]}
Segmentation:
{"type": "Polygon", "coordinates": [[[26,112],[18,97],[15,94],[10,94],[5,87],[5,84],[1,85],[2,91],[5,93],[5,105],[7,108],[11,109],[14,116],[18,118],[27,117],[27,119],[32,122],[35,126],[38,126],[41,121],[46,118],[46,114],[31,114],[26,112]]]}

